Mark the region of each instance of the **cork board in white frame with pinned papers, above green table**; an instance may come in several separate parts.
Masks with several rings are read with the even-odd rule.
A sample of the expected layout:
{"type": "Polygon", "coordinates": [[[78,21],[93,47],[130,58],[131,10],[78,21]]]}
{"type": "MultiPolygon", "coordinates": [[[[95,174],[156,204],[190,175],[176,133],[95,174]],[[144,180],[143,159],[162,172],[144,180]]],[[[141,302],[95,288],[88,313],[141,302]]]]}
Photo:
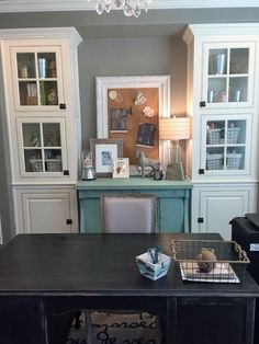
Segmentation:
{"type": "Polygon", "coordinates": [[[159,117],[170,116],[170,77],[97,78],[98,138],[122,138],[123,157],[137,163],[136,151],[169,160],[168,142],[159,140],[159,117]]]}

